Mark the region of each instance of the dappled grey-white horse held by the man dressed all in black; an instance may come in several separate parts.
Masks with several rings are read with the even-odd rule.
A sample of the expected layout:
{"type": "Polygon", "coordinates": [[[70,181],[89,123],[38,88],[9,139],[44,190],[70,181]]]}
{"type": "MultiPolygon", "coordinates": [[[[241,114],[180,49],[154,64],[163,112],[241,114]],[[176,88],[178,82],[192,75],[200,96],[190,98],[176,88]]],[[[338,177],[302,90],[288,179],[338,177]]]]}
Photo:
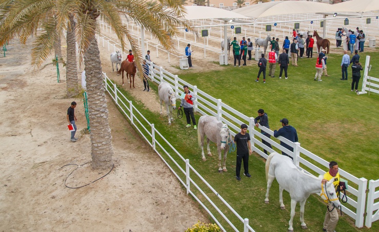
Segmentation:
{"type": "Polygon", "coordinates": [[[202,158],[206,161],[204,155],[204,136],[207,136],[207,151],[208,155],[212,156],[209,149],[209,141],[217,144],[218,153],[218,172],[227,172],[226,169],[226,155],[229,151],[229,143],[232,142],[232,136],[229,133],[229,128],[227,124],[217,121],[216,117],[203,115],[198,120],[197,128],[197,142],[198,145],[202,147],[202,158]],[[224,150],[224,162],[223,167],[221,167],[221,150],[224,150]]]}

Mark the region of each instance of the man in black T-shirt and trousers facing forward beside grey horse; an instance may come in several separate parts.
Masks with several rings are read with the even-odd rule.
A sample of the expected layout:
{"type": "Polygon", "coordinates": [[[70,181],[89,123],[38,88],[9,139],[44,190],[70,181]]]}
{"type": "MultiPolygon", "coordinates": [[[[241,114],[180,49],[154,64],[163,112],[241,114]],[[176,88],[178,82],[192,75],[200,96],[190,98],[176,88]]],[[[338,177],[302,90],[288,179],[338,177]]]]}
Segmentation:
{"type": "Polygon", "coordinates": [[[250,135],[247,133],[247,125],[241,125],[241,132],[236,134],[234,142],[237,146],[237,164],[235,167],[235,178],[241,180],[240,171],[242,160],[244,160],[244,175],[251,177],[249,174],[249,155],[251,155],[250,135]]]}

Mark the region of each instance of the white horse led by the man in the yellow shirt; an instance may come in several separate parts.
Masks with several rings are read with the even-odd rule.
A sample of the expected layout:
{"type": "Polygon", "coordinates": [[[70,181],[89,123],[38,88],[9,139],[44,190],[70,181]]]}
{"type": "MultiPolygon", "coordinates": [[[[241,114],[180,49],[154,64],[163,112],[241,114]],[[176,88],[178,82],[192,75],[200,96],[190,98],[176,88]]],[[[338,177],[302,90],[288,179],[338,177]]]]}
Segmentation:
{"type": "Polygon", "coordinates": [[[291,219],[288,222],[288,231],[293,232],[292,221],[295,216],[297,202],[300,202],[300,222],[302,223],[302,228],[307,228],[307,225],[304,223],[304,205],[310,194],[317,193],[324,200],[332,202],[334,207],[340,207],[341,203],[338,201],[333,185],[334,179],[331,179],[326,184],[322,184],[323,176],[317,178],[299,171],[292,163],[291,158],[276,152],[271,153],[266,161],[266,204],[269,202],[268,193],[275,177],[279,183],[279,203],[281,204],[281,209],[285,209],[283,204],[283,189],[286,189],[291,197],[291,219]]]}

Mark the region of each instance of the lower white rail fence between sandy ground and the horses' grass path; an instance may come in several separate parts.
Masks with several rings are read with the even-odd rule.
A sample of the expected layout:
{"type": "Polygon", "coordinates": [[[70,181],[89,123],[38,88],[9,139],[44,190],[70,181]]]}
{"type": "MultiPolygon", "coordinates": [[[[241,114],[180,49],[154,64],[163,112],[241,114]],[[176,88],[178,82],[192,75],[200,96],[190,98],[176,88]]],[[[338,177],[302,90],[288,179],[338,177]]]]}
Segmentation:
{"type": "Polygon", "coordinates": [[[244,232],[255,232],[255,230],[249,225],[249,219],[244,219],[237,212],[235,212],[235,210],[229,205],[229,203],[226,202],[226,200],[215,191],[215,189],[195,170],[195,168],[190,165],[189,159],[184,159],[183,156],[176,151],[176,149],[170,144],[170,142],[167,141],[167,139],[163,137],[162,134],[155,129],[154,124],[150,123],[134,107],[133,102],[128,100],[117,89],[116,85],[107,77],[105,73],[103,73],[103,76],[105,81],[106,92],[108,92],[109,95],[112,97],[116,106],[119,107],[119,109],[130,120],[132,126],[134,126],[134,128],[144,137],[144,139],[149,143],[149,145],[158,154],[158,156],[161,157],[163,162],[166,163],[166,165],[170,168],[170,170],[176,176],[176,178],[186,187],[187,194],[191,194],[193,198],[195,198],[196,201],[200,203],[205,210],[207,210],[208,214],[213,218],[217,225],[220,226],[220,228],[223,231],[226,231],[226,229],[223,227],[220,221],[218,221],[216,217],[211,213],[208,207],[196,196],[196,194],[192,192],[193,187],[191,187],[191,185],[194,186],[204,196],[204,198],[208,200],[208,202],[217,210],[218,214],[220,214],[224,218],[224,220],[229,224],[229,226],[231,226],[234,229],[234,231],[238,231],[238,229],[225,216],[222,210],[216,206],[215,202],[213,202],[210,199],[210,197],[203,191],[203,189],[200,188],[200,186],[198,186],[198,184],[193,180],[193,176],[200,178],[204,182],[204,184],[208,186],[208,188],[211,190],[214,196],[217,196],[217,198],[220,199],[224,203],[224,205],[227,206],[229,210],[244,224],[244,232]],[[179,173],[176,173],[174,171],[173,168],[176,167],[171,167],[170,164],[162,157],[162,154],[159,153],[159,149],[157,149],[157,147],[159,147],[164,152],[164,154],[166,154],[171,159],[171,161],[176,165],[176,167],[179,168],[179,173]],[[171,156],[171,154],[177,155],[183,161],[182,165],[185,165],[185,170],[184,168],[182,168],[181,164],[176,162],[176,160],[171,156]]]}

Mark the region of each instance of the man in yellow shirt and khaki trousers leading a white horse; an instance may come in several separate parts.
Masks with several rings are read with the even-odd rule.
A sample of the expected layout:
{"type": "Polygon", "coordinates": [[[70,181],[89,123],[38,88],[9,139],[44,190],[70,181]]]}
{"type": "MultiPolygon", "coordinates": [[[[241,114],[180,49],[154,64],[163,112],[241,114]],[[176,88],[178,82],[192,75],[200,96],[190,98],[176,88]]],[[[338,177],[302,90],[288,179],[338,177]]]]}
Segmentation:
{"type": "MultiPolygon", "coordinates": [[[[324,174],[324,179],[322,183],[325,184],[326,182],[328,182],[329,180],[333,178],[334,178],[333,185],[335,187],[335,192],[338,197],[339,195],[338,186],[340,186],[340,173],[338,173],[338,164],[335,161],[331,161],[329,163],[329,172],[324,174]]],[[[342,186],[340,188],[342,189],[342,186]]],[[[334,229],[337,226],[337,222],[338,222],[338,209],[333,206],[332,202],[328,202],[328,209],[326,210],[326,214],[325,214],[323,230],[327,232],[335,232],[334,229]],[[329,210],[331,211],[329,212],[329,210]]]]}

